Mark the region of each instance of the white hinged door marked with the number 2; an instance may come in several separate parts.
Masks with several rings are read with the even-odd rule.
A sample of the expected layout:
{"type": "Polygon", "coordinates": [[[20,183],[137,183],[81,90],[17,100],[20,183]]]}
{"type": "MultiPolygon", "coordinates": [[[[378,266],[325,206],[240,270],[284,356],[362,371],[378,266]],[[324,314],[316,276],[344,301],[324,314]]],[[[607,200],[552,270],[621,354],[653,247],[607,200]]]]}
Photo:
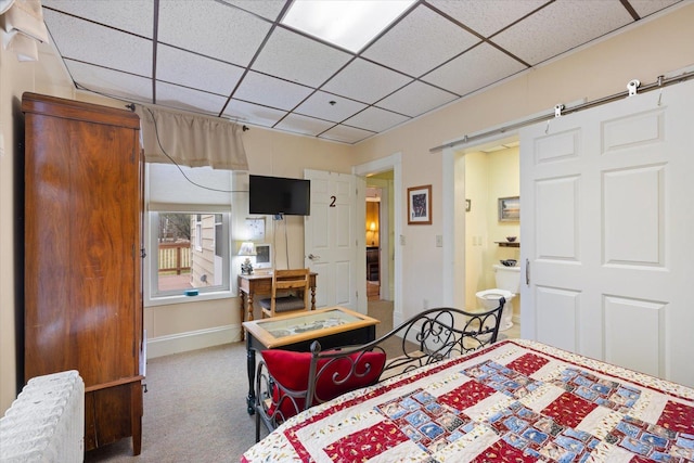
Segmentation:
{"type": "Polygon", "coordinates": [[[304,221],[304,260],[318,272],[316,307],[357,310],[355,176],[307,169],[304,177],[311,180],[311,215],[304,221]]]}

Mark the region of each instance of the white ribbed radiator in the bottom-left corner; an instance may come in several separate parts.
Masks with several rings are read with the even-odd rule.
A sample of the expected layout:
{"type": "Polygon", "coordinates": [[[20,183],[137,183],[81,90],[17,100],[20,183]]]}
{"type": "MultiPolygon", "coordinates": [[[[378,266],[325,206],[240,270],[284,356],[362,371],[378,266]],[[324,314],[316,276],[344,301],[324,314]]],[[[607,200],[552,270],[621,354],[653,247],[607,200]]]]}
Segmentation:
{"type": "Polygon", "coordinates": [[[85,383],[75,370],[37,376],[0,419],[0,462],[81,462],[85,383]]]}

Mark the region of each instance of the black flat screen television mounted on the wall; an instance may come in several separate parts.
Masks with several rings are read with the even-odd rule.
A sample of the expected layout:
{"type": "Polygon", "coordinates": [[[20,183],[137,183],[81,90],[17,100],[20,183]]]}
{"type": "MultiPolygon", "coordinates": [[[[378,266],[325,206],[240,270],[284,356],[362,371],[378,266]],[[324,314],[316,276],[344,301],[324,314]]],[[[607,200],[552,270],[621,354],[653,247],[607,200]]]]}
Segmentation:
{"type": "Polygon", "coordinates": [[[310,180],[249,176],[249,214],[308,216],[310,211],[310,180]]]}

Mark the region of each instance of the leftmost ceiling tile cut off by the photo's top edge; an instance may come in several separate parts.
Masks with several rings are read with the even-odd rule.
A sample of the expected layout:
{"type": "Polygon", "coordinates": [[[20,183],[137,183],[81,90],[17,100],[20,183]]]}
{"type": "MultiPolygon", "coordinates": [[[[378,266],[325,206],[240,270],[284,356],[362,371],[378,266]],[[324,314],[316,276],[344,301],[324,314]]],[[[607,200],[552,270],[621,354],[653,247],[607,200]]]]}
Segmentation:
{"type": "Polygon", "coordinates": [[[150,0],[123,2],[94,0],[43,0],[46,9],[55,9],[75,16],[115,27],[117,29],[152,38],[154,30],[154,3],[150,0]]]}

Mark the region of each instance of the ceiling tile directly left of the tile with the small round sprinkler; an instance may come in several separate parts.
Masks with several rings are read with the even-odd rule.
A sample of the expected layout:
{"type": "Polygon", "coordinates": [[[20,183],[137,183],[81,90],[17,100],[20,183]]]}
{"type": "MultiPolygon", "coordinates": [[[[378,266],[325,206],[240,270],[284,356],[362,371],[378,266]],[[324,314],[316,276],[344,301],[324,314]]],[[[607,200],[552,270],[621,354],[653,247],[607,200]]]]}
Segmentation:
{"type": "Polygon", "coordinates": [[[311,92],[312,90],[308,87],[250,72],[233,97],[249,103],[259,103],[279,110],[292,110],[311,92]]]}

